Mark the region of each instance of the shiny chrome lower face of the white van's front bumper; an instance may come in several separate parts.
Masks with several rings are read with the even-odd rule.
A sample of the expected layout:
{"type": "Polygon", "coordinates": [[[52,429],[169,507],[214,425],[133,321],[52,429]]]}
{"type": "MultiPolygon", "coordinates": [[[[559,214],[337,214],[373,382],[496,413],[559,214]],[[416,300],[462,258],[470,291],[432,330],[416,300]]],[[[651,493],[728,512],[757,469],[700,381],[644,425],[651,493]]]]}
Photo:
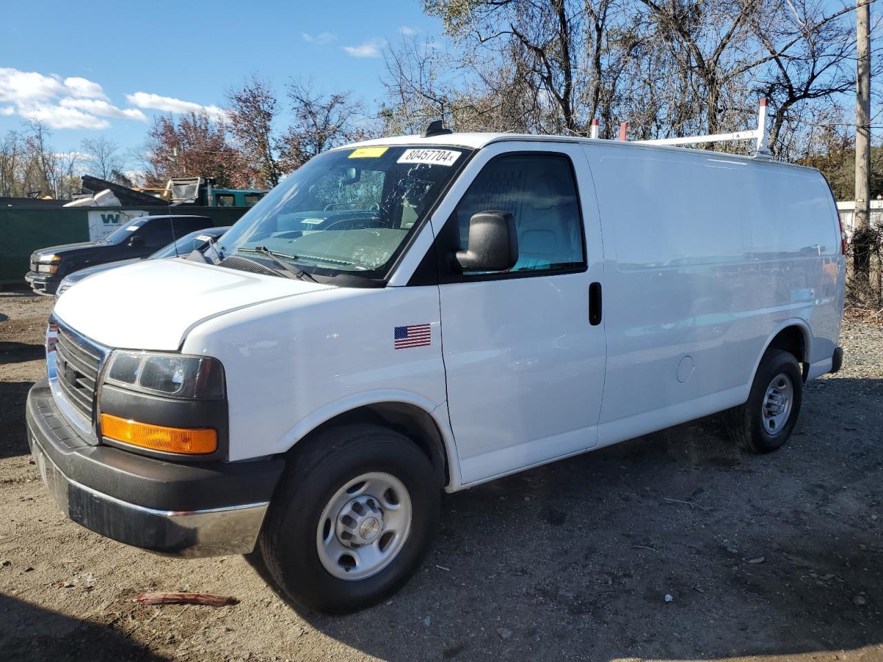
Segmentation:
{"type": "Polygon", "coordinates": [[[67,478],[30,436],[31,453],[49,493],[74,522],[127,545],[173,556],[253,551],[268,501],[212,510],[155,510],[96,492],[67,478]]]}

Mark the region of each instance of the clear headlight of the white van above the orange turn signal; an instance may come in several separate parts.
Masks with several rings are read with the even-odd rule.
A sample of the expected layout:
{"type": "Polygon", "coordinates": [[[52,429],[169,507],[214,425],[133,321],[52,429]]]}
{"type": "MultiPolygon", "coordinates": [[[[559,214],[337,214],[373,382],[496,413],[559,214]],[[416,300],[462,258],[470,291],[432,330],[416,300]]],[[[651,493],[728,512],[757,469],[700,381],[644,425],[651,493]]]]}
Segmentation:
{"type": "Polygon", "coordinates": [[[224,397],[223,365],[210,357],[114,350],[105,379],[109,384],[167,397],[224,397]]]}

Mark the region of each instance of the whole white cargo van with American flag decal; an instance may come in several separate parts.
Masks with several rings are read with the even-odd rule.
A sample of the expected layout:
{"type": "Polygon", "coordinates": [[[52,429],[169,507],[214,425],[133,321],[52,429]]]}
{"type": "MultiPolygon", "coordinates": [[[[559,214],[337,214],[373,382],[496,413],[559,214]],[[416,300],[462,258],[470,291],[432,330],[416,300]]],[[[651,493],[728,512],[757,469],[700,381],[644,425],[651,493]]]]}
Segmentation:
{"type": "Polygon", "coordinates": [[[73,521],[160,553],[257,548],[329,612],[407,580],[442,489],[723,410],[772,451],[841,365],[834,199],[768,160],[373,140],[315,157],[209,254],[59,298],[34,458],[73,521]]]}

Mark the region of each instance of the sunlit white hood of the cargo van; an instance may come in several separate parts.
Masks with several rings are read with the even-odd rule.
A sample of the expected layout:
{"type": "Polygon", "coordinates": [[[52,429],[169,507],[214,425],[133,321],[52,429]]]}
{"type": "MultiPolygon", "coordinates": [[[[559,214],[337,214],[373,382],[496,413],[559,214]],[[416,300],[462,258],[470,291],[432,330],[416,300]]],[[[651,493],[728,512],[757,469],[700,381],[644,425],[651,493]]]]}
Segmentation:
{"type": "Polygon", "coordinates": [[[53,312],[68,327],[108,347],[173,351],[202,320],[331,289],[186,260],[140,260],[79,282],[59,297],[53,312]]]}

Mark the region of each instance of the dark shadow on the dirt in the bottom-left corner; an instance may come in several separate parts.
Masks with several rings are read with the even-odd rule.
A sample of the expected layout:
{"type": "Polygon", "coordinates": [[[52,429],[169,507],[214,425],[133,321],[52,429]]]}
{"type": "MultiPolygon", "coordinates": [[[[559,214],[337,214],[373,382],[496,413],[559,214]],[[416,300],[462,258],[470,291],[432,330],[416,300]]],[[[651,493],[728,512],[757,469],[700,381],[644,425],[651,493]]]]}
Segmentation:
{"type": "Polygon", "coordinates": [[[0,594],[0,651],[8,660],[90,660],[161,662],[156,655],[113,628],[51,612],[0,594]]]}

